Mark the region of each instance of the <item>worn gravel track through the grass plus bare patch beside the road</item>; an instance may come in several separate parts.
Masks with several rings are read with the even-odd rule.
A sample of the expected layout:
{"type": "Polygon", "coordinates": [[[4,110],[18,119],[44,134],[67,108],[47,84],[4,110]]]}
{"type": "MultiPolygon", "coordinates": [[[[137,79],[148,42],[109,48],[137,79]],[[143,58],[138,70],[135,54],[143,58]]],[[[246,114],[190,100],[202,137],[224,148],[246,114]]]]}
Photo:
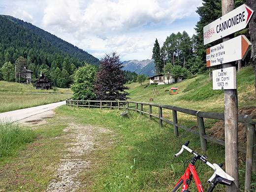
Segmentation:
{"type": "MultiPolygon", "coordinates": [[[[47,111],[30,118],[20,121],[25,125],[38,125],[47,123],[44,119],[51,118],[54,115],[53,111],[47,111]]],[[[66,151],[68,152],[62,158],[62,163],[57,168],[54,178],[48,185],[45,192],[74,192],[80,187],[77,176],[86,171],[90,166],[90,161],[82,158],[89,154],[96,144],[97,135],[102,133],[111,133],[105,128],[84,126],[71,123],[63,130],[66,134],[60,137],[71,139],[67,143],[66,151]]]]}

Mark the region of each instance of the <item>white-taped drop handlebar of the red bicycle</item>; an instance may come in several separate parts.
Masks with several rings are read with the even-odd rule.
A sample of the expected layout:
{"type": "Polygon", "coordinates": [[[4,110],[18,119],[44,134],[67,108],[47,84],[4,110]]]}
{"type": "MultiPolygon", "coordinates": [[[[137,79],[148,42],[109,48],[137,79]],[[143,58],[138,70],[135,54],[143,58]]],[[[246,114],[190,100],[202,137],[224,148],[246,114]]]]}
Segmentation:
{"type": "MultiPolygon", "coordinates": [[[[184,145],[182,145],[182,148],[181,150],[179,151],[179,153],[175,154],[174,157],[178,157],[179,155],[182,154],[182,152],[184,151],[184,149],[186,149],[188,152],[192,153],[195,157],[198,157],[200,155],[196,154],[195,152],[192,151],[192,149],[190,149],[188,147],[190,141],[187,141],[184,145]]],[[[222,168],[221,166],[219,166],[218,164],[216,163],[210,163],[209,161],[205,160],[206,157],[204,156],[200,156],[200,160],[202,160],[203,162],[205,162],[209,167],[211,167],[213,170],[214,170],[214,173],[213,175],[210,177],[210,179],[208,179],[208,183],[211,183],[212,180],[217,176],[219,175],[220,177],[224,178],[224,179],[227,179],[229,181],[234,181],[235,179],[233,177],[231,177],[230,175],[228,175],[222,168]]]]}

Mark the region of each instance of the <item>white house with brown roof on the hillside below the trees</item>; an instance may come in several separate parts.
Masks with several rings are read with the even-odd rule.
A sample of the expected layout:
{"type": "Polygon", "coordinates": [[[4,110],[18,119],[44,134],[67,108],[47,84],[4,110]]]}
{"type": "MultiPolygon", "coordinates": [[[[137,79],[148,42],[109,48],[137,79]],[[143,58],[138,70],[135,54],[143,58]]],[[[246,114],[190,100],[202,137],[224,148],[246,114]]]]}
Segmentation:
{"type": "MultiPolygon", "coordinates": [[[[158,85],[164,85],[164,84],[171,84],[171,83],[175,83],[175,78],[172,77],[171,75],[163,75],[163,74],[158,74],[158,75],[154,75],[152,77],[149,78],[149,82],[150,84],[153,83],[158,83],[158,85]]],[[[179,75],[178,77],[178,82],[181,82],[183,80],[183,75],[179,75]]]]}

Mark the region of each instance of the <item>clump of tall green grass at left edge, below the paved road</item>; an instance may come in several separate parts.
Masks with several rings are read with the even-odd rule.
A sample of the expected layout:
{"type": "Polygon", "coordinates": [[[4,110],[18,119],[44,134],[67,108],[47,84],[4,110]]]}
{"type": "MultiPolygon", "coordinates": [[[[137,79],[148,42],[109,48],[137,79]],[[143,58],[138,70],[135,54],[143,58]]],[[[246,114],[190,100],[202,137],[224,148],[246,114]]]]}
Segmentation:
{"type": "Polygon", "coordinates": [[[9,155],[13,150],[31,142],[36,134],[18,124],[0,122],[0,157],[9,155]]]}

